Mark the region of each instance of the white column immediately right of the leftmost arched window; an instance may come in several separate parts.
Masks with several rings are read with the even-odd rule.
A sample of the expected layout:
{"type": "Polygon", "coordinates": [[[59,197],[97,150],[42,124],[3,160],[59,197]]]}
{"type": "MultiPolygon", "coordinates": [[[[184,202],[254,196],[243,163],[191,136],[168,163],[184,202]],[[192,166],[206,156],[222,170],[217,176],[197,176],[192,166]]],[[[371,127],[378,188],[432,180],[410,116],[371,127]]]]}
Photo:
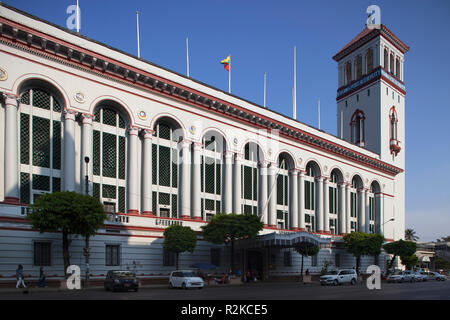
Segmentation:
{"type": "Polygon", "coordinates": [[[75,117],[77,112],[64,113],[64,190],[75,191],[75,117]]]}

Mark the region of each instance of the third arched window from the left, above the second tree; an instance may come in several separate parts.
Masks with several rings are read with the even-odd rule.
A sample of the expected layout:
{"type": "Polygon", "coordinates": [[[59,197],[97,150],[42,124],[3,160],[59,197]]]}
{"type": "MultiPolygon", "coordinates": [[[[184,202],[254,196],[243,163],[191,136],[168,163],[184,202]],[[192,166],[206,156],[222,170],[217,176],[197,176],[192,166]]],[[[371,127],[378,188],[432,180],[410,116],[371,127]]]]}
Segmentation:
{"type": "Polygon", "coordinates": [[[162,119],[153,128],[152,210],[158,217],[178,218],[178,149],[175,124],[162,119]]]}

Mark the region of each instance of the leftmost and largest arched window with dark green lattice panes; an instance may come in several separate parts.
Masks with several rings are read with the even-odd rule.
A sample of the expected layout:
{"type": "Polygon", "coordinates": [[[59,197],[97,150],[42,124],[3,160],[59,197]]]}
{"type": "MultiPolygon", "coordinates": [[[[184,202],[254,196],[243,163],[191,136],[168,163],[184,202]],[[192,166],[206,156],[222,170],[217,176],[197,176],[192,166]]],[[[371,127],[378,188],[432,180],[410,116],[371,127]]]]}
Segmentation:
{"type": "Polygon", "coordinates": [[[20,90],[20,202],[61,191],[63,101],[56,89],[34,81],[20,90]]]}

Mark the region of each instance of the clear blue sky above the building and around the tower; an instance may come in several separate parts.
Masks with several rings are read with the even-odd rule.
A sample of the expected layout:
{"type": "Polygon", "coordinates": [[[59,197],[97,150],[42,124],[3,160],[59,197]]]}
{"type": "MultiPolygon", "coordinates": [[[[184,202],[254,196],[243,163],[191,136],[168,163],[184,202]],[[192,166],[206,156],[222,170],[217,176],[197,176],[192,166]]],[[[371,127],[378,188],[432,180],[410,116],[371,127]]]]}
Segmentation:
{"type": "MultiPolygon", "coordinates": [[[[5,3],[66,27],[76,0],[5,3]]],[[[450,235],[450,1],[79,0],[81,33],[224,91],[219,63],[232,56],[232,93],[292,116],[293,47],[297,46],[297,119],[336,135],[337,67],[332,56],[381,8],[381,22],[410,46],[405,56],[406,227],[421,241],[450,235]]]]}

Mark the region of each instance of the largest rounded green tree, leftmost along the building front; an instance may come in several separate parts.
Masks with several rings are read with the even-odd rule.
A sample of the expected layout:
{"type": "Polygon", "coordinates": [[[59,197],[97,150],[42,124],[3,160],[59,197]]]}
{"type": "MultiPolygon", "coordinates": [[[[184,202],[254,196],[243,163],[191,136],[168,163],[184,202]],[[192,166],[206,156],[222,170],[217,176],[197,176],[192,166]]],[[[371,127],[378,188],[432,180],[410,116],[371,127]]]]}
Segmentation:
{"type": "MultiPolygon", "coordinates": [[[[71,235],[95,235],[106,219],[103,205],[94,197],[76,192],[54,192],[40,196],[28,215],[33,229],[62,233],[64,274],[70,265],[71,235]]],[[[67,276],[67,275],[66,275],[67,276]]]]}

